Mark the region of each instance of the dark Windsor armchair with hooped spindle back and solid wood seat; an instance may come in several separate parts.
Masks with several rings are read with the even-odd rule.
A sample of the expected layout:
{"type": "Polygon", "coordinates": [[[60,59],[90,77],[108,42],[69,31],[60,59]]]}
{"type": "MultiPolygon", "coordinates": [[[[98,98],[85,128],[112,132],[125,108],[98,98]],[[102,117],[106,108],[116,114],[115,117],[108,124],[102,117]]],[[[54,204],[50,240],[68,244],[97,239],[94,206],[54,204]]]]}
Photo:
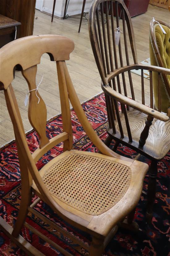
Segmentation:
{"type": "Polygon", "coordinates": [[[108,137],[105,144],[109,146],[114,139],[114,151],[121,143],[151,159],[146,214],[147,220],[151,221],[156,193],[157,162],[170,150],[170,120],[168,115],[161,113],[160,96],[161,76],[170,75],[170,70],[138,64],[133,26],[122,0],[92,2],[89,34],[102,80],[101,87],[105,93],[108,114],[108,137]],[[120,40],[116,41],[117,32],[120,30],[120,40]],[[122,40],[124,44],[121,43],[122,40]],[[136,90],[135,81],[133,82],[130,72],[133,69],[141,70],[140,90],[136,90]],[[144,86],[143,70],[149,70],[150,73],[150,85],[147,88],[144,86]],[[158,111],[153,109],[153,72],[158,73],[158,111]],[[118,104],[121,105],[121,112],[118,104]]]}

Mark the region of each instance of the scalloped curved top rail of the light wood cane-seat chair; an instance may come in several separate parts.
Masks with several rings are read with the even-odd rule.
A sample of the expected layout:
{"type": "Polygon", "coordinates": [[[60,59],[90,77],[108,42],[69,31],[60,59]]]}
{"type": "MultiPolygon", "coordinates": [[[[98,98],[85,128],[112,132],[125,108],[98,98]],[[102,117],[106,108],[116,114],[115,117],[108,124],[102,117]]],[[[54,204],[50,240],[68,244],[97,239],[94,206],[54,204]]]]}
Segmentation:
{"type": "Polygon", "coordinates": [[[0,49],[0,89],[7,89],[14,79],[14,67],[19,64],[23,70],[40,63],[42,54],[48,53],[51,61],[69,60],[74,42],[58,35],[37,35],[22,37],[0,49]]]}

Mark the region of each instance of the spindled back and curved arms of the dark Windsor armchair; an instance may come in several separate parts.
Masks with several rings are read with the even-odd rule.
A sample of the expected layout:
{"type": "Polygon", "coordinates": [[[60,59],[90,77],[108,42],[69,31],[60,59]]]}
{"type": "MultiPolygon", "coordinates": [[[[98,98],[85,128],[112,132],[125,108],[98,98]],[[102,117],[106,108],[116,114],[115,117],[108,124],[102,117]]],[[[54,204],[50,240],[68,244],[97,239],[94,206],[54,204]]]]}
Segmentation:
{"type": "MultiPolygon", "coordinates": [[[[133,26],[129,11],[122,0],[92,2],[89,11],[89,35],[102,80],[102,89],[105,92],[108,134],[114,139],[118,137],[128,143],[134,140],[137,142],[135,145],[138,145],[134,136],[135,129],[131,127],[133,122],[130,124],[130,118],[134,115],[130,107],[150,115],[149,119],[155,117],[152,72],[158,72],[158,111],[161,112],[160,76],[162,73],[167,74],[168,70],[162,71],[155,66],[137,63],[133,26]],[[118,40],[117,35],[120,36],[118,40]],[[131,70],[134,69],[141,70],[141,88],[139,89],[133,86],[131,70]],[[149,70],[150,76],[147,86],[144,85],[145,69],[149,70]],[[146,108],[149,102],[152,110],[146,108]]],[[[158,113],[156,115],[159,117],[158,113]]],[[[163,119],[161,116],[161,120],[163,119]]],[[[144,143],[139,140],[141,147],[144,143]]]]}

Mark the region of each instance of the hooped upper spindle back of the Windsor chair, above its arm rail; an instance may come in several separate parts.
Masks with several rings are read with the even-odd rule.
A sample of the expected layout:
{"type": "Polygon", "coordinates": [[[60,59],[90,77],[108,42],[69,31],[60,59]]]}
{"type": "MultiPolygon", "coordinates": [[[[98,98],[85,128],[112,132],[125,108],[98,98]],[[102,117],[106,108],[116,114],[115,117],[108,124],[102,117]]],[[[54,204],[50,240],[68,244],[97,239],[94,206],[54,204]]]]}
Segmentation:
{"type": "MultiPolygon", "coordinates": [[[[89,11],[89,34],[103,84],[107,84],[108,75],[114,72],[115,69],[129,66],[130,63],[137,64],[132,22],[122,0],[99,0],[92,3],[89,11]],[[120,17],[122,20],[120,20],[120,17]],[[120,33],[119,41],[116,39],[117,32],[120,33]],[[129,56],[129,45],[131,56],[129,56]],[[125,56],[125,59],[123,56],[125,56]]],[[[125,81],[124,78],[123,80],[125,81]]],[[[115,81],[113,83],[115,86],[115,81]]]]}

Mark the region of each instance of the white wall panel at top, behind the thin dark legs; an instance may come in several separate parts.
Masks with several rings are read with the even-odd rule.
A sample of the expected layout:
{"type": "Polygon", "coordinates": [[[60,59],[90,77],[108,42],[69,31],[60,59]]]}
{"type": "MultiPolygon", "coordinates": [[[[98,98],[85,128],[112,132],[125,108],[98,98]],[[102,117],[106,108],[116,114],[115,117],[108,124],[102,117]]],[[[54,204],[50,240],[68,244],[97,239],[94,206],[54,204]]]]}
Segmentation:
{"type": "MultiPolygon", "coordinates": [[[[40,11],[45,11],[47,13],[52,14],[53,11],[53,0],[41,0],[42,1],[42,8],[40,11]]],[[[64,7],[65,7],[65,0],[57,0],[54,10],[54,15],[62,18],[64,16],[64,7]]],[[[88,12],[92,0],[86,0],[84,12],[88,12]]],[[[70,0],[69,6],[67,9],[67,13],[69,16],[71,15],[77,15],[82,12],[83,7],[83,0],[70,0]]]]}

